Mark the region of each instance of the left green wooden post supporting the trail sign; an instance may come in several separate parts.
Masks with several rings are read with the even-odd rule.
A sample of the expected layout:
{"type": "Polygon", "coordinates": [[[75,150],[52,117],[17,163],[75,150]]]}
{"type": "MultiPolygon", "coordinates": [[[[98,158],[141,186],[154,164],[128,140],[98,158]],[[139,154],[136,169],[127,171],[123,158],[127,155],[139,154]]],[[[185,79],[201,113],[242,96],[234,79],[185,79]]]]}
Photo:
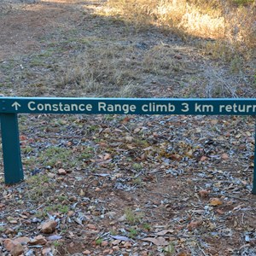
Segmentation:
{"type": "Polygon", "coordinates": [[[20,157],[20,137],[16,113],[1,113],[4,181],[19,183],[24,179],[20,157]]]}

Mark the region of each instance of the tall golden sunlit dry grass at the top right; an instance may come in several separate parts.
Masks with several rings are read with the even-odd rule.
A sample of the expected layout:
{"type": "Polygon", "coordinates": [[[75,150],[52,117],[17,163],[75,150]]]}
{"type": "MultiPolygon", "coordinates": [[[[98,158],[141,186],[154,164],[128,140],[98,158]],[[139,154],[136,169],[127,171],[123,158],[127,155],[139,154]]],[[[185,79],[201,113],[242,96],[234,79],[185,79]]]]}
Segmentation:
{"type": "Polygon", "coordinates": [[[137,26],[222,39],[236,52],[256,47],[256,4],[251,0],[108,0],[101,14],[121,16],[137,26]]]}

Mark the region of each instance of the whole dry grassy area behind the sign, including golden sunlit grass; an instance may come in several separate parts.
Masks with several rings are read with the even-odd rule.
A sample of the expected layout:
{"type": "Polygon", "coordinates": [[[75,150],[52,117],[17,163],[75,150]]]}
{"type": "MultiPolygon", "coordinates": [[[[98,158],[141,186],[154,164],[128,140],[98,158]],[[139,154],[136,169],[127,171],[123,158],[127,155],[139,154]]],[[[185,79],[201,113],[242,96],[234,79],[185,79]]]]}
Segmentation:
{"type": "Polygon", "coordinates": [[[0,10],[3,18],[14,10],[20,15],[3,22],[0,60],[9,45],[13,51],[13,58],[0,62],[4,95],[255,96],[254,1],[63,3],[53,3],[60,13],[45,8],[50,1],[32,4],[32,26],[26,26],[26,8],[26,15],[20,5],[0,10]],[[72,19],[69,8],[76,10],[72,19]],[[14,29],[20,24],[23,34],[14,29]],[[28,54],[20,55],[26,47],[28,54]]]}

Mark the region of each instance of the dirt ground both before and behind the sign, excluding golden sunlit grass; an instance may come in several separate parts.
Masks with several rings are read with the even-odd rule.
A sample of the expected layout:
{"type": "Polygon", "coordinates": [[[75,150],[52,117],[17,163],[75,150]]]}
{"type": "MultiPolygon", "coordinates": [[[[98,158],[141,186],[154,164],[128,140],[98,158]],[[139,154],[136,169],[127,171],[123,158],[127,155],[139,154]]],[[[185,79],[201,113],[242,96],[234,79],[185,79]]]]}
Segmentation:
{"type": "MultiPolygon", "coordinates": [[[[208,92],[213,83],[239,83],[241,90],[218,90],[253,95],[247,79],[228,76],[226,67],[176,35],[156,28],[137,32],[120,20],[102,19],[95,9],[103,3],[2,1],[1,93],[91,96],[79,85],[55,85],[56,76],[64,76],[58,68],[73,65],[90,49],[96,59],[91,67],[104,69],[106,55],[99,49],[117,47],[125,48],[118,66],[134,67],[128,79],[143,84],[143,90],[136,87],[138,96],[201,96],[204,83],[208,92]],[[155,62],[147,59],[150,50],[160,50],[155,62]],[[179,65],[172,67],[172,77],[153,68],[174,65],[163,58],[166,53],[179,65]],[[186,85],[192,82],[194,89],[186,85]]],[[[111,60],[119,57],[114,55],[111,60]]],[[[110,68],[98,83],[111,75],[110,68]]],[[[107,96],[116,96],[107,84],[107,96]]],[[[1,161],[0,254],[13,249],[12,255],[26,256],[256,255],[254,122],[220,116],[20,115],[25,181],[4,185],[1,161]],[[49,220],[56,226],[47,233],[42,225],[49,220]],[[17,253],[17,243],[9,248],[7,241],[19,237],[17,253]]]]}

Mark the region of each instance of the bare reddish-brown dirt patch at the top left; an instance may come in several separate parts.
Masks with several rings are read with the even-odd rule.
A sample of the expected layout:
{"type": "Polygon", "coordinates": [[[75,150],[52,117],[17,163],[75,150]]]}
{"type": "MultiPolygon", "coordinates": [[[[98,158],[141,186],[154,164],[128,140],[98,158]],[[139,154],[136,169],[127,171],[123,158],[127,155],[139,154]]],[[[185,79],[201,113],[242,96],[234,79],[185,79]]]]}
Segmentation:
{"type": "Polygon", "coordinates": [[[38,38],[58,29],[68,31],[78,21],[83,9],[80,1],[38,1],[32,4],[9,3],[7,14],[1,15],[0,61],[15,55],[28,54],[43,46],[38,38]],[[12,10],[14,9],[14,10],[12,10]]]}

